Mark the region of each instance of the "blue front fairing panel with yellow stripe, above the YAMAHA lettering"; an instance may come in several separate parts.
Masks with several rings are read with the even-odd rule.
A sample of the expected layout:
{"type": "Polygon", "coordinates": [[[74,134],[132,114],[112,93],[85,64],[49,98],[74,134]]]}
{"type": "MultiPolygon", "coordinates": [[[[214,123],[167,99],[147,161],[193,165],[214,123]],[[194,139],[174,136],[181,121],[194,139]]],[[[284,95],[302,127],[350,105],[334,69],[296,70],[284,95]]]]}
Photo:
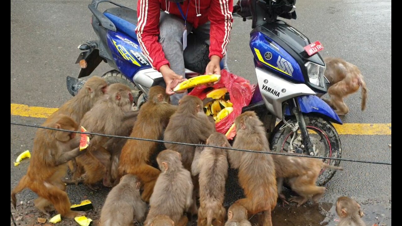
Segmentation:
{"type": "Polygon", "coordinates": [[[286,80],[304,83],[303,74],[296,60],[267,35],[259,31],[251,33],[250,48],[256,67],[269,70],[286,80]]]}

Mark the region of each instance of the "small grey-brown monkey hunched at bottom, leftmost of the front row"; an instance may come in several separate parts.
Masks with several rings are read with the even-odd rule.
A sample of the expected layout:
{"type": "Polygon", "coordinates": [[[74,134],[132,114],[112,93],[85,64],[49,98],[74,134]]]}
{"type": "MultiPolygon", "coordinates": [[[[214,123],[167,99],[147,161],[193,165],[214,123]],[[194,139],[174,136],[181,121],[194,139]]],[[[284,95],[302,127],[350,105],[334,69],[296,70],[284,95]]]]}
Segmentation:
{"type": "Polygon", "coordinates": [[[132,174],[121,177],[107,195],[100,212],[100,226],[134,226],[133,219],[142,221],[147,204],[139,194],[140,182],[132,174]]]}

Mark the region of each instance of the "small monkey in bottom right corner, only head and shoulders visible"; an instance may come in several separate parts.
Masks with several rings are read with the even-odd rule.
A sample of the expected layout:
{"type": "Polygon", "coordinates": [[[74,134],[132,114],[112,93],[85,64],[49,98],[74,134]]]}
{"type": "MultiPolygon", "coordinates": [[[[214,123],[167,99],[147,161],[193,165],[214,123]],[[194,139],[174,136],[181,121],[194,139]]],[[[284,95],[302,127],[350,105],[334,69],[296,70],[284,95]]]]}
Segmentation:
{"type": "Polygon", "coordinates": [[[338,226],[366,226],[361,220],[364,214],[360,205],[349,197],[343,196],[336,200],[336,214],[340,218],[338,226]]]}

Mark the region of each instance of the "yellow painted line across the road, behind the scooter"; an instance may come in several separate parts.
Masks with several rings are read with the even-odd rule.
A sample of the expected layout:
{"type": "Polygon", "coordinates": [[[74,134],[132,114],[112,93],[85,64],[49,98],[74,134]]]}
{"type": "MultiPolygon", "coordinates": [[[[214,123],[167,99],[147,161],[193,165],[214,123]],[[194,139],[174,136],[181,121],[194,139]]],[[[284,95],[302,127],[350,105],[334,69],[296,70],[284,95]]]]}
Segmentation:
{"type": "MultiPolygon", "coordinates": [[[[47,118],[55,111],[57,111],[57,108],[11,104],[11,115],[47,118]]],[[[332,125],[334,125],[339,135],[391,135],[391,123],[344,123],[343,125],[332,125]]]]}

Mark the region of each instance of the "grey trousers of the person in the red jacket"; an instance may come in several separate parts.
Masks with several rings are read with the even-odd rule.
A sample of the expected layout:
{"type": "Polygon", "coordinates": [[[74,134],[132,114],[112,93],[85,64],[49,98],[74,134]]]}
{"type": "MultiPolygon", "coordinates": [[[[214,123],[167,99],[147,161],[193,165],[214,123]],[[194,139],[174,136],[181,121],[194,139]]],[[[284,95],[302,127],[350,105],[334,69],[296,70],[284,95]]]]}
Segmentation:
{"type": "MultiPolygon", "coordinates": [[[[197,37],[207,40],[206,43],[209,45],[210,25],[211,22],[208,21],[203,25],[199,25],[197,29],[193,29],[193,26],[187,23],[187,35],[190,32],[193,32],[195,35],[197,35],[197,37]]],[[[172,69],[176,74],[185,78],[185,66],[183,58],[183,18],[161,12],[159,32],[159,43],[162,45],[166,60],[168,60],[170,63],[170,69],[172,69]]],[[[222,58],[222,61],[224,62],[224,67],[221,69],[228,70],[228,66],[226,64],[226,55],[224,58],[222,58]]],[[[184,95],[187,95],[187,92],[176,93],[170,96],[172,104],[178,105],[178,100],[184,95]]]]}

